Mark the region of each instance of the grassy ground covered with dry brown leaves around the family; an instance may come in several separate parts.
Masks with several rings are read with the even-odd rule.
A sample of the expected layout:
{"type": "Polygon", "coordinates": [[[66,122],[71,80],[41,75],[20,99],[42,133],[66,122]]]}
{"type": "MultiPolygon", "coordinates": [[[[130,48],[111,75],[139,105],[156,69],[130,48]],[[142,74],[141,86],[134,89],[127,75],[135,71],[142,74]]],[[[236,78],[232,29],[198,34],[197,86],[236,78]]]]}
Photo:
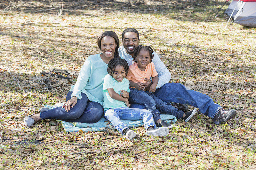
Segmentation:
{"type": "MultiPolygon", "coordinates": [[[[256,29],[214,16],[224,3],[199,0],[0,1],[0,169],[255,169],[256,29]],[[128,141],[116,131],[65,133],[23,118],[63,102],[97,36],[140,32],[179,82],[210,95],[237,116],[216,126],[199,112],[167,137],[128,141]],[[43,75],[52,69],[70,79],[43,75]],[[47,79],[48,78],[48,79],[47,79]],[[52,90],[49,89],[51,88],[52,90]]],[[[192,107],[191,107],[192,109],[192,107]]]]}

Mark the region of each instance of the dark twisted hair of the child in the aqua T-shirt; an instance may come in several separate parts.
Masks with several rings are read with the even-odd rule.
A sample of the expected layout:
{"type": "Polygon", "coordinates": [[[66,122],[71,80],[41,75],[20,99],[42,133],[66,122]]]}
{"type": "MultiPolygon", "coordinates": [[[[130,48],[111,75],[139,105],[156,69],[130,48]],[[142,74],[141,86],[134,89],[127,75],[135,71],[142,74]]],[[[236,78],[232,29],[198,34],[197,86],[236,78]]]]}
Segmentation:
{"type": "Polygon", "coordinates": [[[108,74],[113,76],[114,71],[116,69],[116,66],[121,65],[124,67],[124,71],[125,71],[125,75],[128,74],[128,70],[129,70],[129,65],[127,63],[126,60],[122,59],[121,57],[119,58],[112,58],[109,62],[108,62],[108,74]]]}

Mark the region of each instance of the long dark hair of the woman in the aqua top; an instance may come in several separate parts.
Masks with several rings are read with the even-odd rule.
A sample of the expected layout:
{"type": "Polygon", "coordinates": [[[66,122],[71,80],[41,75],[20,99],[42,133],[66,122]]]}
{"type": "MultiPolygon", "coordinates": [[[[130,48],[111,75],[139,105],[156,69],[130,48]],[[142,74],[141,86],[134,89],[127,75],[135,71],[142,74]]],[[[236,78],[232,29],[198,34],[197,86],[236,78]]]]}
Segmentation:
{"type": "Polygon", "coordinates": [[[97,40],[98,47],[100,48],[100,50],[101,50],[101,40],[104,37],[114,38],[114,40],[116,42],[116,50],[115,50],[115,53],[114,53],[114,58],[118,58],[119,57],[118,48],[119,48],[120,43],[119,43],[119,39],[118,39],[116,33],[113,32],[113,31],[104,31],[103,33],[100,34],[100,36],[98,37],[98,40],[97,40]]]}

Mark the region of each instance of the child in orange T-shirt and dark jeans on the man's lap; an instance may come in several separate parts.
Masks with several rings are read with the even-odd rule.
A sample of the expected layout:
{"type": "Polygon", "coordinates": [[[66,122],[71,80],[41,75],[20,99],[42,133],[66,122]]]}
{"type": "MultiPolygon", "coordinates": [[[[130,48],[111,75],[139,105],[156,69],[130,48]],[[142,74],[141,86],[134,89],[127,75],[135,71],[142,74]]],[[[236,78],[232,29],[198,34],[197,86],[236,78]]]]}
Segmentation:
{"type": "MultiPolygon", "coordinates": [[[[174,115],[178,119],[183,119],[185,122],[188,122],[196,112],[196,108],[190,112],[184,113],[183,111],[173,107],[170,104],[167,104],[163,100],[158,99],[153,92],[156,91],[156,85],[158,83],[158,74],[156,72],[154,63],[152,63],[153,59],[153,49],[149,46],[139,45],[135,48],[133,61],[134,63],[130,65],[129,72],[126,78],[130,82],[130,97],[129,101],[131,103],[139,103],[146,107],[146,109],[150,110],[155,119],[158,119],[161,112],[165,114],[174,115]],[[152,85],[150,86],[150,90],[148,92],[138,90],[140,87],[140,83],[146,83],[144,78],[152,77],[152,85]]],[[[156,121],[156,126],[161,127],[162,124],[156,121]]],[[[161,122],[162,123],[162,122],[161,122]]],[[[165,122],[163,122],[165,123],[165,122]]]]}

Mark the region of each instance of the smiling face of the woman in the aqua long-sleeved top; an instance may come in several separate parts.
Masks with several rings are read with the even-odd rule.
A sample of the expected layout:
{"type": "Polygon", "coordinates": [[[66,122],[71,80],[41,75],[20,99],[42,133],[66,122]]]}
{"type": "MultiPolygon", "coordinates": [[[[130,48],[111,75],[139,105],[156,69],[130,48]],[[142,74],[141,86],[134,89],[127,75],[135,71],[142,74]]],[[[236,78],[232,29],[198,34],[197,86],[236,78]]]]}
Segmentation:
{"type": "Polygon", "coordinates": [[[101,40],[101,52],[104,58],[113,58],[116,49],[116,42],[113,37],[103,37],[101,40]]]}

